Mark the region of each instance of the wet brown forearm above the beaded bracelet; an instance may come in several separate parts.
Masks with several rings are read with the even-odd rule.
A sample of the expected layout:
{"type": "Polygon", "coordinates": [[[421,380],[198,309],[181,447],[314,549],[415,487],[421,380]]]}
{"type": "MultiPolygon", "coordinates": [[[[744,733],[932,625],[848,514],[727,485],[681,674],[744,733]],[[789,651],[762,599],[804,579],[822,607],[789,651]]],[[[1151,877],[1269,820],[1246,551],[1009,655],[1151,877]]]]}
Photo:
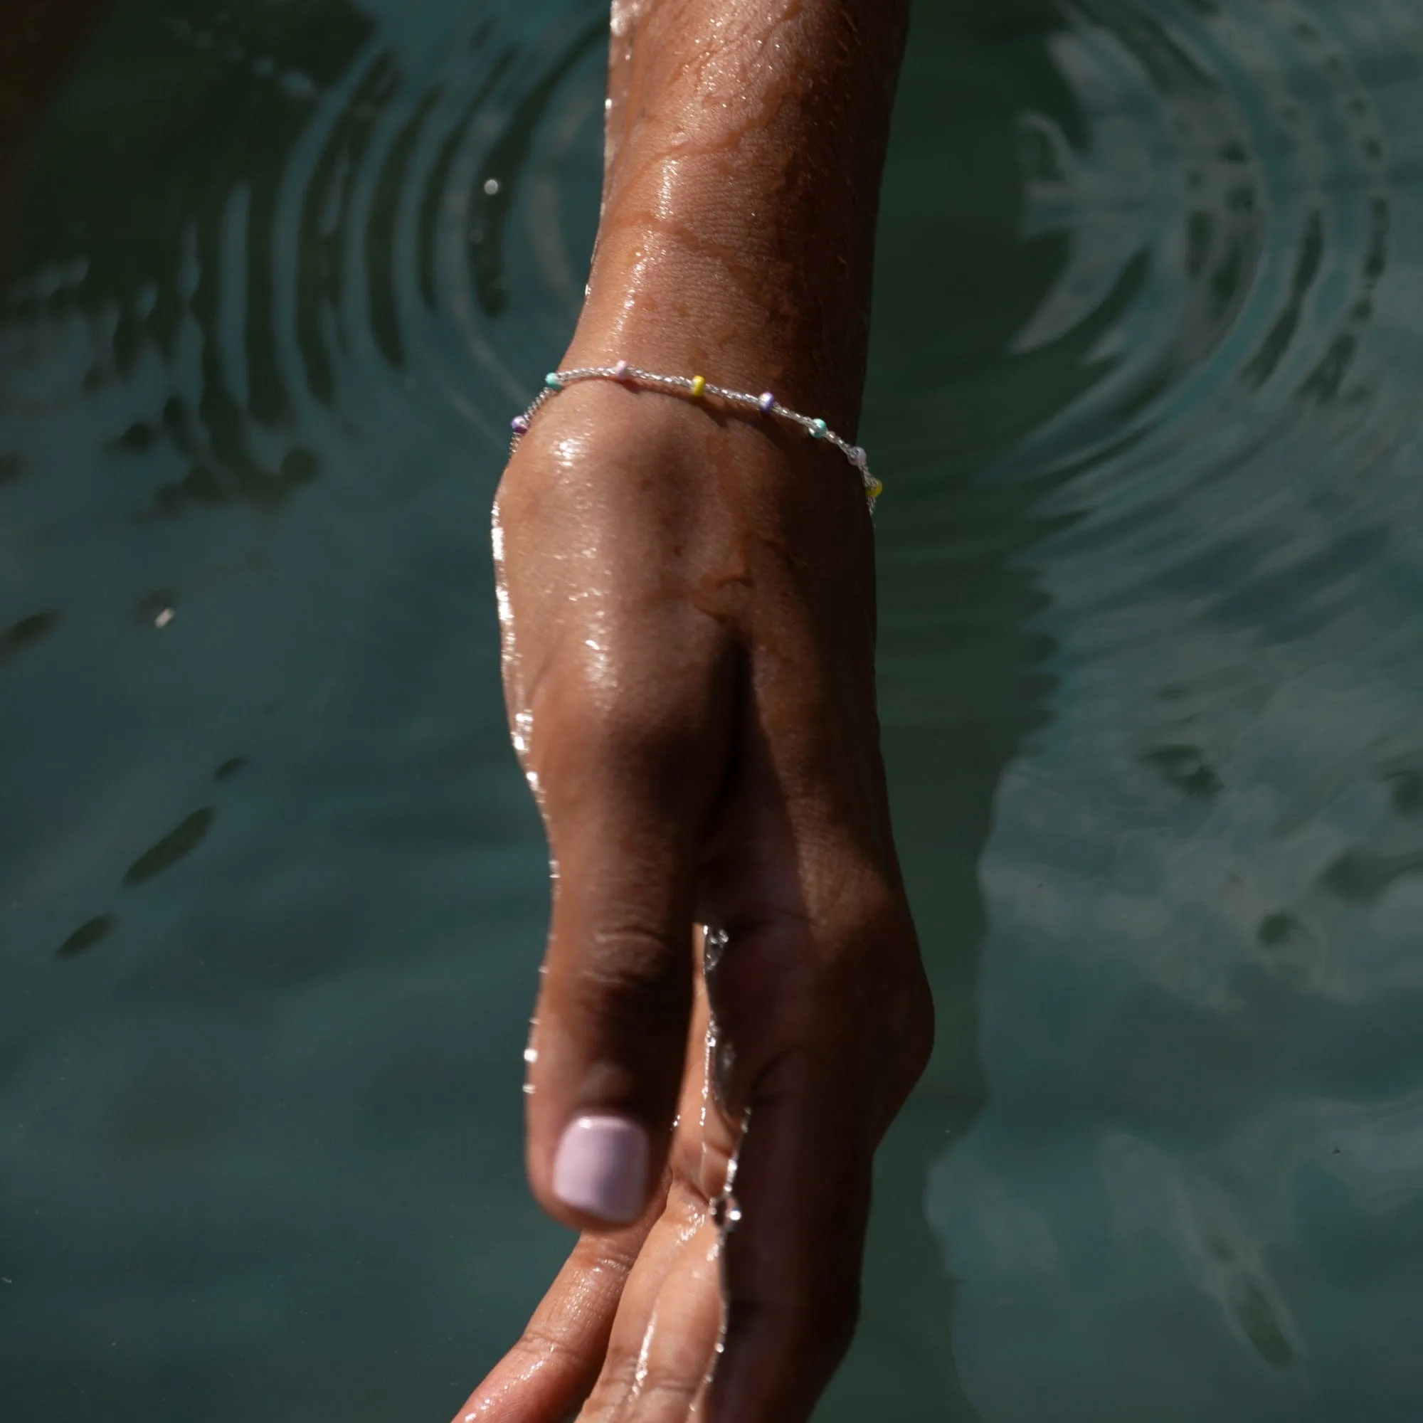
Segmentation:
{"type": "Polygon", "coordinates": [[[578,360],[747,390],[851,433],[908,0],[615,0],[578,360]]]}

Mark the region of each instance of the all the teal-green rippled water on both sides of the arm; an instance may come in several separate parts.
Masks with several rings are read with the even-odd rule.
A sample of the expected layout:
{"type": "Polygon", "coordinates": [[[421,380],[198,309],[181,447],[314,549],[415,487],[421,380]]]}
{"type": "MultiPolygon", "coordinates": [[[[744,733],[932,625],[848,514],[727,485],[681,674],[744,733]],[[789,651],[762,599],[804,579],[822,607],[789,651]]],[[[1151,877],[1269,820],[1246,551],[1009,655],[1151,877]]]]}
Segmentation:
{"type": "MultiPolygon", "coordinates": [[[[487,517],[602,21],[33,26],[6,1419],[443,1420],[566,1247],[487,517]]],[[[918,9],[864,434],[941,1046],[824,1423],[1423,1414],[1420,70],[1403,0],[918,9]]]]}

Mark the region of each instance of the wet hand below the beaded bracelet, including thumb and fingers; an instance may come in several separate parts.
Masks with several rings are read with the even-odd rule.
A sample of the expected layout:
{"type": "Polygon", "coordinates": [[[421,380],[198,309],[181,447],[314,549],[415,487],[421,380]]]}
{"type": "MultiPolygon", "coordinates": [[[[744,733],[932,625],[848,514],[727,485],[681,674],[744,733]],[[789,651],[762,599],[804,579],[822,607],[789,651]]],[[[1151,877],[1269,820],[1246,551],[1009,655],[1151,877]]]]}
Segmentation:
{"type": "Polygon", "coordinates": [[[793,428],[596,381],[538,414],[495,528],[555,864],[528,1170],[585,1234],[460,1417],[561,1423],[592,1390],[588,1423],[797,1423],[848,1345],[871,1158],[932,1039],[859,481],[793,428]]]}

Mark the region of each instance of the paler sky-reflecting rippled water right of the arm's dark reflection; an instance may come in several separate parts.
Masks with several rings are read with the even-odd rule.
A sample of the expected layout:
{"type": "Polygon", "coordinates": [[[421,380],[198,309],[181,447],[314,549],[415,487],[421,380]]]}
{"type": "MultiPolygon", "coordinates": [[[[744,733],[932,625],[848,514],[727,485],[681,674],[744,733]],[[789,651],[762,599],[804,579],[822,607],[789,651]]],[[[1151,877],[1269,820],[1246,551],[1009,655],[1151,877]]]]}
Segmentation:
{"type": "MultiPolygon", "coordinates": [[[[929,1200],[961,1379],[993,1423],[1393,1417],[1423,1323],[1423,17],[1074,0],[1040,40],[1022,231],[1054,265],[996,377],[1023,418],[891,555],[932,532],[968,568],[995,531],[1035,605],[986,1086],[929,1200]]],[[[924,619],[891,609],[888,717],[968,736],[924,619]]]]}

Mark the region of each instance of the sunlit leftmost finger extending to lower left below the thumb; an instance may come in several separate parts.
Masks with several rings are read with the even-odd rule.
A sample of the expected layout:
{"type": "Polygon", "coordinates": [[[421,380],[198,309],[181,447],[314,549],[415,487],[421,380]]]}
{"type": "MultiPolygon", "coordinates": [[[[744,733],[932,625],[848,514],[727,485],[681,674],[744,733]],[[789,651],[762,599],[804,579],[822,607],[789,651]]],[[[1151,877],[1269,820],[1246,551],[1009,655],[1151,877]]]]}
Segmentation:
{"type": "Polygon", "coordinates": [[[632,1229],[583,1235],[518,1343],[455,1414],[455,1423],[564,1423],[603,1363],[628,1274],[653,1212],[632,1229]]]}

